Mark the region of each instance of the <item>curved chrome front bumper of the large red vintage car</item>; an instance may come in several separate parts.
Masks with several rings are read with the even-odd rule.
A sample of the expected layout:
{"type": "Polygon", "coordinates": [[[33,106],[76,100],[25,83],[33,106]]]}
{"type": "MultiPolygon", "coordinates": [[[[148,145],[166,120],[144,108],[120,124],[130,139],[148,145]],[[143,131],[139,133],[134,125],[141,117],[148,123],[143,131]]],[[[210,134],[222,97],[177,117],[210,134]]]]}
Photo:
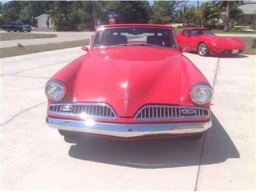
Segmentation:
{"type": "Polygon", "coordinates": [[[113,122],[96,122],[91,119],[69,120],[46,117],[47,124],[52,128],[67,131],[133,138],[140,136],[189,134],[206,131],[212,126],[211,120],[203,122],[168,122],[149,124],[118,124],[113,122]]]}

